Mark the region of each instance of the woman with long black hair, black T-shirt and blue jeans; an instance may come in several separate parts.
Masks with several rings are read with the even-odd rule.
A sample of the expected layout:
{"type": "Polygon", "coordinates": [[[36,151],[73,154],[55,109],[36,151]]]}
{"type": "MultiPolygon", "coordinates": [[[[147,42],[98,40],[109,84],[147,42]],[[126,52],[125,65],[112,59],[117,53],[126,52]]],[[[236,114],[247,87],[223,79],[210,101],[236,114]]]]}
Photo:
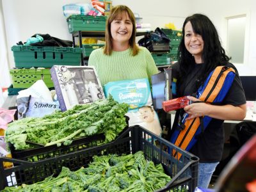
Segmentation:
{"type": "Polygon", "coordinates": [[[234,65],[228,62],[230,58],[221,47],[218,33],[211,20],[202,14],[187,17],[182,27],[182,34],[179,62],[171,66],[179,74],[177,78],[178,97],[194,95],[193,93],[196,93],[198,88],[204,84],[212,70],[218,66],[231,67],[236,71],[234,81],[220,104],[196,102],[198,99],[189,96],[192,104],[186,106],[183,112],[181,109],[178,110],[175,115],[172,131],[178,126],[185,112],[189,114],[186,120],[198,116],[211,117],[207,129],[189,150],[200,158],[198,186],[207,188],[223,152],[223,121],[243,120],[246,115],[246,99],[238,72],[234,65]]]}

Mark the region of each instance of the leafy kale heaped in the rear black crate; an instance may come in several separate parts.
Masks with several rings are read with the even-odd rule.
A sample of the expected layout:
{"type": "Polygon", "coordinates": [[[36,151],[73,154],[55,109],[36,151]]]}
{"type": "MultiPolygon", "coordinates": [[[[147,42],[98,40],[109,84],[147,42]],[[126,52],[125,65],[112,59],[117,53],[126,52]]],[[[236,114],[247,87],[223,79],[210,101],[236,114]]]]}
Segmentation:
{"type": "Polygon", "coordinates": [[[6,143],[16,150],[33,148],[29,142],[50,145],[70,145],[72,140],[93,134],[104,133],[106,142],[127,126],[127,104],[118,104],[113,97],[92,104],[77,105],[68,111],[56,111],[43,118],[23,118],[8,125],[6,143]]]}

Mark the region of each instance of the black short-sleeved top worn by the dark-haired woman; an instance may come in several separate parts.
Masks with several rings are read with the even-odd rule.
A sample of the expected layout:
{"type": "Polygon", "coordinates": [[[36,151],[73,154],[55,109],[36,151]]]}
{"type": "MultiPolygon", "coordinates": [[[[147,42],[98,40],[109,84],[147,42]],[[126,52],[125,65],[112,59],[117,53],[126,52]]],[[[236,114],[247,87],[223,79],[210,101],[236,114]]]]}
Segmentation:
{"type": "MultiPolygon", "coordinates": [[[[198,79],[200,76],[203,65],[205,64],[195,64],[193,66],[193,70],[191,70],[187,77],[182,77],[182,81],[178,79],[177,97],[196,93],[196,79],[198,79]]],[[[236,70],[236,67],[234,67],[234,65],[231,63],[228,63],[225,66],[232,67],[234,70],[236,70]]],[[[179,63],[172,65],[172,68],[179,73],[179,63]]],[[[240,106],[245,103],[246,99],[244,96],[244,90],[236,70],[234,82],[232,83],[232,86],[230,87],[225,99],[223,102],[221,102],[221,105],[232,104],[233,106],[240,106]]],[[[179,111],[177,111],[175,115],[173,129],[177,127],[178,118],[179,111]]],[[[224,143],[223,122],[223,120],[212,118],[211,122],[207,126],[207,129],[205,129],[203,136],[201,136],[191,150],[189,150],[189,152],[200,158],[200,163],[215,163],[221,160],[224,143]]]]}

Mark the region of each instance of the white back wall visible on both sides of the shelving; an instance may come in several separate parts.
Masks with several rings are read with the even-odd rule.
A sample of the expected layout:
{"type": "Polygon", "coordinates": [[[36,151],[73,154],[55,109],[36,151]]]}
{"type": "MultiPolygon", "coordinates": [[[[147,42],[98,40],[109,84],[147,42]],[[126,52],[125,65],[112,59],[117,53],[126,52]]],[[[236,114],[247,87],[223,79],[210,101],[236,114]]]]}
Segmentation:
{"type": "MultiPolygon", "coordinates": [[[[72,40],[72,35],[68,33],[66,18],[63,16],[62,6],[68,3],[88,2],[90,0],[3,0],[10,67],[14,67],[11,47],[19,41],[26,42],[35,33],[49,33],[51,36],[64,40],[72,40]]],[[[181,28],[184,15],[187,12],[185,8],[178,10],[173,9],[172,6],[172,4],[176,4],[177,7],[187,7],[186,0],[180,2],[163,0],[161,4],[166,6],[161,6],[161,8],[157,9],[154,6],[158,4],[157,1],[113,0],[113,5],[116,4],[126,4],[133,12],[140,13],[140,17],[143,17],[143,22],[151,23],[152,29],[157,26],[164,27],[164,24],[168,22],[174,22],[177,24],[177,28],[181,28]],[[170,10],[175,10],[175,12],[170,12],[170,10]]]]}

